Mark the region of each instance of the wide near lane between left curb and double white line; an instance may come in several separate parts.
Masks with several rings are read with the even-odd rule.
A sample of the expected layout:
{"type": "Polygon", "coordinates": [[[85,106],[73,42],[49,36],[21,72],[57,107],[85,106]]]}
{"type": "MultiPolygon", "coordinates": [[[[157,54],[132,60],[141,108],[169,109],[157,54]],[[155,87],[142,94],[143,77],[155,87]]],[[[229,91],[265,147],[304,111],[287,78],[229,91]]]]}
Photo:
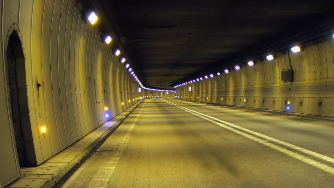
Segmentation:
{"type": "Polygon", "coordinates": [[[149,99],[64,187],[331,187],[332,182],[331,174],[149,99]]]}

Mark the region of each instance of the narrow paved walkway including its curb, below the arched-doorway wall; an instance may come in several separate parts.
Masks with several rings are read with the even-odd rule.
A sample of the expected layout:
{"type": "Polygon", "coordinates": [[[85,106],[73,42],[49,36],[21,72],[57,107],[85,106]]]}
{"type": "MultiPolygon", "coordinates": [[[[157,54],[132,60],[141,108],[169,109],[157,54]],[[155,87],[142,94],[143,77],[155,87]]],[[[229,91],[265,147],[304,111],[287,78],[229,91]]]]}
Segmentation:
{"type": "Polygon", "coordinates": [[[21,169],[21,178],[11,188],[60,187],[140,105],[134,104],[121,114],[93,130],[45,163],[21,169]]]}

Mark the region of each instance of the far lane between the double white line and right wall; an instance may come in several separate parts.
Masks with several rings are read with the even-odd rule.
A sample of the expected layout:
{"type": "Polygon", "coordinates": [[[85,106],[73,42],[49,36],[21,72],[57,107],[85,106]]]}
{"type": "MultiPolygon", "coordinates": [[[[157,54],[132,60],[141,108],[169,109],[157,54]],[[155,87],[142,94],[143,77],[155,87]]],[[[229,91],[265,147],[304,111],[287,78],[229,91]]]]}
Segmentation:
{"type": "Polygon", "coordinates": [[[334,123],[169,98],[168,101],[334,158],[334,123]]]}

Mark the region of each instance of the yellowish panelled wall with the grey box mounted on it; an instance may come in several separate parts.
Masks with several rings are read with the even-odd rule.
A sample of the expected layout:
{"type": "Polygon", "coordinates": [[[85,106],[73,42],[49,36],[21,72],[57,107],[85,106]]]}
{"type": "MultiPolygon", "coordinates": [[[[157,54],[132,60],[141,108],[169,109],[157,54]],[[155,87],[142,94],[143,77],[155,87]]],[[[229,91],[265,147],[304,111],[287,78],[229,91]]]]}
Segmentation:
{"type": "Polygon", "coordinates": [[[276,54],[273,61],[257,61],[252,67],[242,66],[239,71],[215,74],[213,78],[178,87],[176,96],[186,100],[333,117],[333,50],[333,40],[308,43],[299,53],[276,54]],[[281,71],[288,69],[293,70],[292,83],[281,81],[281,71]],[[193,87],[193,91],[190,92],[189,87],[193,87]]]}

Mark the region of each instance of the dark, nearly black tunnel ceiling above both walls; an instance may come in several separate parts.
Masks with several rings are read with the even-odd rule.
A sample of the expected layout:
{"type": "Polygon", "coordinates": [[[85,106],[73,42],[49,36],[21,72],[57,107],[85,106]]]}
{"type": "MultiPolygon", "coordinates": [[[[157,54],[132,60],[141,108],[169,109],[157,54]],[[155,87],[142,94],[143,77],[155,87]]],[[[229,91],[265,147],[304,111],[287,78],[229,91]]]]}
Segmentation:
{"type": "Polygon", "coordinates": [[[142,82],[159,88],[333,21],[333,1],[322,0],[99,3],[142,82]]]}

